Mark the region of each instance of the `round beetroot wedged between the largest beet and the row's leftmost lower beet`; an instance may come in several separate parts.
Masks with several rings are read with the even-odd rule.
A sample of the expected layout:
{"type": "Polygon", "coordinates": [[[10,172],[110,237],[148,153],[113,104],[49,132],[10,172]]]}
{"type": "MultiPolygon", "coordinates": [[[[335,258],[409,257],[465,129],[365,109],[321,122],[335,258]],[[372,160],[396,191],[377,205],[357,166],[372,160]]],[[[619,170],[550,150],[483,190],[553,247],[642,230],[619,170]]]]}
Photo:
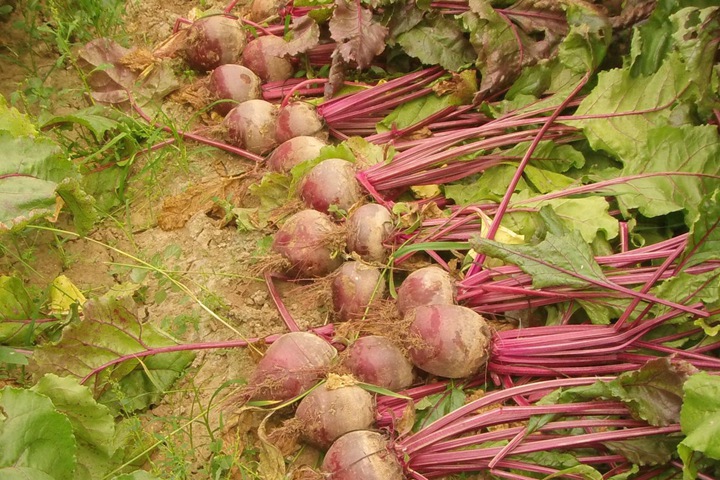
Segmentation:
{"type": "Polygon", "coordinates": [[[358,380],[398,391],[413,382],[413,366],[388,338],[360,337],[343,353],[343,364],[358,380]]]}

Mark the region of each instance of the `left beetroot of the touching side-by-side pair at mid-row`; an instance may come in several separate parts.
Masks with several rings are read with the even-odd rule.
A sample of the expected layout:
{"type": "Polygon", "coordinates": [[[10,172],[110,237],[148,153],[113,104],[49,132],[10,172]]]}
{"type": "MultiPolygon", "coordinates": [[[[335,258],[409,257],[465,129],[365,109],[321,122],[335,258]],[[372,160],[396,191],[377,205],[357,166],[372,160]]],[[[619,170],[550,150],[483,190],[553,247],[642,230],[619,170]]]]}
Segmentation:
{"type": "Polygon", "coordinates": [[[288,273],[319,277],[342,263],[332,246],[337,236],[337,227],[330,217],[317,210],[301,210],[278,230],[272,248],[290,262],[288,273]]]}

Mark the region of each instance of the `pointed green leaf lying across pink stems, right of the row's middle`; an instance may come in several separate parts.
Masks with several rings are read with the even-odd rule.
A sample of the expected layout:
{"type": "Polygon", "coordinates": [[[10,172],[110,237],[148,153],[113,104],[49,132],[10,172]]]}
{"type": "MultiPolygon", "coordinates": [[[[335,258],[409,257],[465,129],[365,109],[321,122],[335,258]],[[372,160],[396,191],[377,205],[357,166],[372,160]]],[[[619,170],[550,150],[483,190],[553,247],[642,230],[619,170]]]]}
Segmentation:
{"type": "MultiPolygon", "coordinates": [[[[541,214],[559,221],[549,207],[541,214]]],[[[533,278],[533,287],[587,287],[590,280],[606,283],[602,269],[595,261],[590,246],[577,231],[548,232],[537,245],[506,245],[484,238],[470,241],[472,248],[520,267],[533,278]]]]}

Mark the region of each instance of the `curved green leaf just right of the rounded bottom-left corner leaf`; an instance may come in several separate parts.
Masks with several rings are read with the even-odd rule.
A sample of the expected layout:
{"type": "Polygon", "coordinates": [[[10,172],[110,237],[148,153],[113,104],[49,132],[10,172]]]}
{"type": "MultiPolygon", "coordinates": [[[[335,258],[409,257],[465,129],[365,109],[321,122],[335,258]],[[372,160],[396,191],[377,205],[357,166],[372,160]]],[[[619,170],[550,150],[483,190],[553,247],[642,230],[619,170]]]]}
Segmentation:
{"type": "Polygon", "coordinates": [[[48,374],[31,390],[50,398],[72,424],[78,447],[75,479],[102,478],[115,453],[115,420],[110,409],[71,377],[48,374]]]}

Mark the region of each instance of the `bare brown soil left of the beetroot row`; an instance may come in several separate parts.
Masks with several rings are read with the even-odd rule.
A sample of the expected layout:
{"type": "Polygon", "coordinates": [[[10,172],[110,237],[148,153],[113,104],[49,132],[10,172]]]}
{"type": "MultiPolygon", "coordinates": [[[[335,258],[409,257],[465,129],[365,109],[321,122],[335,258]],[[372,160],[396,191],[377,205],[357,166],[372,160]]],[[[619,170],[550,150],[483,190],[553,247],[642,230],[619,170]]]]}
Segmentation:
{"type": "MultiPolygon", "coordinates": [[[[156,45],[170,35],[177,18],[193,15],[193,8],[199,4],[127,2],[123,23],[127,43],[139,47],[156,45]]],[[[225,6],[225,2],[217,1],[203,4],[204,8],[225,6]]],[[[46,46],[32,53],[23,50],[28,39],[11,27],[18,15],[16,12],[14,18],[0,23],[0,94],[6,99],[18,98],[15,92],[23,91],[28,78],[32,78],[27,68],[32,60],[39,65],[36,74],[49,74],[45,85],[58,93],[44,105],[16,104],[19,108],[28,107],[25,109],[31,114],[39,114],[40,110],[61,114],[87,106],[75,70],[69,66],[50,67],[57,51],[46,46]],[[61,94],[72,92],[75,95],[61,94]]],[[[287,331],[258,275],[259,260],[262,263],[257,257],[258,242],[271,230],[239,232],[213,214],[217,211],[212,208],[213,197],[233,194],[234,198],[244,198],[245,188],[256,178],[255,165],[222,152],[208,153],[207,149],[191,145],[187,148],[187,162],[172,162],[170,157],[161,173],[151,179],[140,174],[150,161],[148,156],[137,161],[133,165],[137,175],[130,177],[127,189],[132,199],[127,213],[104,221],[88,237],[144,259],[163,255],[169,248],[179,252],[169,257],[164,266],[177,272],[193,293],[227,322],[227,326],[223,325],[186,294],[174,292],[147,275],[142,281],[147,289],[143,293],[145,301],[138,305],[139,318],[161,326],[183,343],[263,337],[287,331]]],[[[64,227],[62,219],[58,227],[64,227]]],[[[0,258],[0,272],[19,274],[29,286],[44,288],[62,274],[90,298],[133,280],[131,269],[119,265],[131,263],[129,258],[84,239],[58,240],[49,233],[35,233],[13,242],[6,247],[31,255],[23,257],[24,263],[11,255],[0,258]]],[[[326,322],[325,307],[304,294],[302,288],[280,285],[280,291],[301,327],[326,322]]],[[[211,478],[211,463],[224,454],[242,459],[219,478],[262,478],[248,475],[255,468],[242,463],[260,458],[253,432],[265,413],[238,414],[236,407],[223,403],[237,387],[220,391],[226,382],[247,378],[253,366],[247,349],[198,351],[173,392],[142,416],[145,429],[155,432],[156,438],[164,438],[143,468],[154,471],[159,478],[211,478]],[[206,417],[199,415],[203,411],[206,417]],[[213,443],[218,438],[225,440],[220,447],[213,443]]],[[[316,453],[306,451],[303,455],[308,462],[317,461],[316,453]]]]}

